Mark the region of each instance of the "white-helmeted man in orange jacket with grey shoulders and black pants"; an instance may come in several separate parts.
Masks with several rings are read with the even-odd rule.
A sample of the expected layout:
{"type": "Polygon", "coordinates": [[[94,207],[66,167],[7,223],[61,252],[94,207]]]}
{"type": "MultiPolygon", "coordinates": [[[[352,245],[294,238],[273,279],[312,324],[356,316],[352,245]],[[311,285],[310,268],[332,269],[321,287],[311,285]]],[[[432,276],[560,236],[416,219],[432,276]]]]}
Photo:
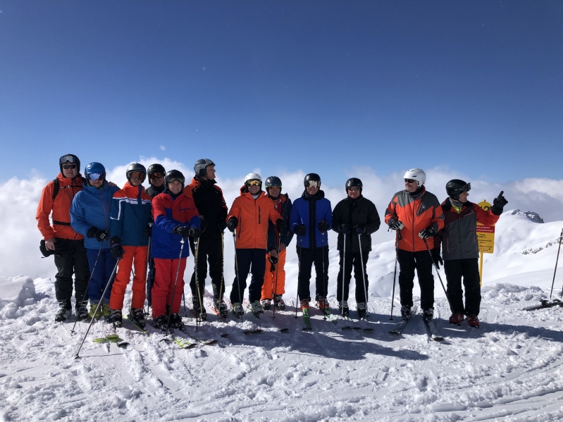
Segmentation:
{"type": "Polygon", "coordinates": [[[424,182],[426,173],[420,168],[404,173],[405,189],[393,195],[385,210],[385,223],[397,230],[401,316],[408,318],[412,311],[416,269],[423,318],[429,323],[434,314],[434,276],[428,249],[434,248],[434,237],[444,227],[444,213],[438,198],[426,191],[424,182]]]}

